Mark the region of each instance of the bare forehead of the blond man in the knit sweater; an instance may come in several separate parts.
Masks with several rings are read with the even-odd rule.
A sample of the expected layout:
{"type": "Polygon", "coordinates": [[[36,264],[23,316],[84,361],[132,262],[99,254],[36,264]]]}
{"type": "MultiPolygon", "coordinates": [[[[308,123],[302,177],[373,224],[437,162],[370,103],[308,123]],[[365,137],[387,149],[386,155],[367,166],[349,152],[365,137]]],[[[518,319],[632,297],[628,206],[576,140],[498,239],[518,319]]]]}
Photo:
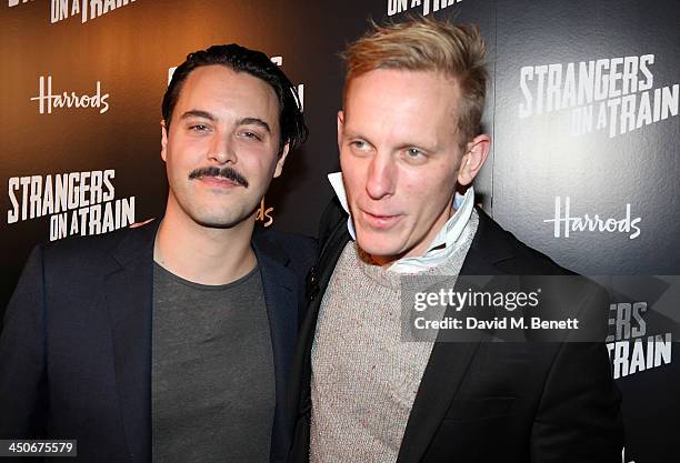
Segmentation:
{"type": "Polygon", "coordinates": [[[348,124],[389,121],[402,130],[419,123],[456,125],[460,88],[456,79],[440,72],[377,69],[347,85],[348,124]]]}

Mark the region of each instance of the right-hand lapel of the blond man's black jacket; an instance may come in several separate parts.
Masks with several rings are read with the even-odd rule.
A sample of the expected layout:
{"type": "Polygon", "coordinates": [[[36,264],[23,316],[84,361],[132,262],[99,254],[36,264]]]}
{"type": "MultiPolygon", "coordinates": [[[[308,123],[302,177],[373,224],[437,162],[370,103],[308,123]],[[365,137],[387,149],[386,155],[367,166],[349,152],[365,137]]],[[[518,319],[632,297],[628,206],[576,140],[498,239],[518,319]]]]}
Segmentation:
{"type": "MultiPolygon", "coordinates": [[[[498,262],[512,258],[502,246],[504,236],[498,227],[478,209],[479,225],[463,265],[461,275],[502,274],[498,262]]],[[[449,316],[446,314],[444,316],[449,316]]],[[[434,433],[439,429],[458,387],[486,334],[474,331],[469,342],[447,342],[440,331],[432,348],[409,415],[397,463],[420,462],[434,433]]]]}

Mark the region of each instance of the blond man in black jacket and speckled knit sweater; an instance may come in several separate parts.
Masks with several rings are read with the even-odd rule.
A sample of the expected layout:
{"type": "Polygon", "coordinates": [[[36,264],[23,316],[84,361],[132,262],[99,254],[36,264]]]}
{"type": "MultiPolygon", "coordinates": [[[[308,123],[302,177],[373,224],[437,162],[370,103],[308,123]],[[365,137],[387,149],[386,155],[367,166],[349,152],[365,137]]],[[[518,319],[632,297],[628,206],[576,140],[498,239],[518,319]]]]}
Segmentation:
{"type": "MultiPolygon", "coordinates": [[[[620,461],[603,344],[401,339],[404,274],[569,274],[474,207],[490,145],[478,29],[374,27],[344,59],[342,172],[293,361],[289,461],[620,461]]],[[[570,296],[606,303],[588,285],[570,296]]]]}

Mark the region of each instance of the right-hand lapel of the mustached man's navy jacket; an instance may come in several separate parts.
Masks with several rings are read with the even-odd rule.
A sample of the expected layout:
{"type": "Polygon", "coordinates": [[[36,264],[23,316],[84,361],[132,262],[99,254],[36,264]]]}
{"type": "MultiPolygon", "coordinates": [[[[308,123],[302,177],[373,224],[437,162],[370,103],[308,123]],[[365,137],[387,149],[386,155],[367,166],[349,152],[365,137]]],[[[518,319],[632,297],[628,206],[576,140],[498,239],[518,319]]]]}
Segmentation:
{"type": "Polygon", "coordinates": [[[271,461],[283,461],[290,442],[292,416],[286,405],[288,371],[298,331],[298,298],[296,276],[287,268],[290,259],[266,233],[253,236],[252,246],[258,258],[264,303],[269,319],[276,379],[271,461]]]}

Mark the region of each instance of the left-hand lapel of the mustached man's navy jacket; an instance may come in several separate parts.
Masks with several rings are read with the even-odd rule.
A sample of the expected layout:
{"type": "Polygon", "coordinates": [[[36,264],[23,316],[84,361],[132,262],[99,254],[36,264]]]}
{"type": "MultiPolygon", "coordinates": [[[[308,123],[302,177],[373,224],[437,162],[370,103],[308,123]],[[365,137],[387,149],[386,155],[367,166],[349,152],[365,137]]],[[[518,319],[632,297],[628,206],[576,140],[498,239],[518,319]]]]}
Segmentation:
{"type": "Polygon", "coordinates": [[[120,414],[130,462],[151,460],[151,310],[153,240],[160,221],[128,230],[106,276],[120,414]]]}

